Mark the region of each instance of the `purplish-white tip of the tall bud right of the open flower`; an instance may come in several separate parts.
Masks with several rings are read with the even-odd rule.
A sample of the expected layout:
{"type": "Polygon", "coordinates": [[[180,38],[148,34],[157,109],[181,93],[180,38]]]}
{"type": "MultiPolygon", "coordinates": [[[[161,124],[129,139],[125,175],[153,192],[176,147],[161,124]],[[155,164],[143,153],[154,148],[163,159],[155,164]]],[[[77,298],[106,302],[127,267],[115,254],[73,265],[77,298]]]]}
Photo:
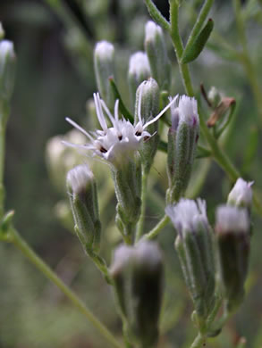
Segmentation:
{"type": "MultiPolygon", "coordinates": [[[[172,101],[172,97],[169,100],[172,101]]],[[[182,122],[190,127],[199,125],[198,102],[194,97],[182,95],[171,107],[172,128],[176,130],[182,122]]]]}

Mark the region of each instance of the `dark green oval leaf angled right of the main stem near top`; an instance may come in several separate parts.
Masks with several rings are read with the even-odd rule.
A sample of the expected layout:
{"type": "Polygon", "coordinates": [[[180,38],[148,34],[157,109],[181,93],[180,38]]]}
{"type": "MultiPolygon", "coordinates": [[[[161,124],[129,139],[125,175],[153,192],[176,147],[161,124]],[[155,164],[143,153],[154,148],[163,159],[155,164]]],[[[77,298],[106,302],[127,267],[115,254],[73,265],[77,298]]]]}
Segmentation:
{"type": "Polygon", "coordinates": [[[210,18],[205,27],[200,31],[199,36],[195,39],[191,46],[186,46],[182,54],[182,64],[192,62],[198,58],[199,54],[207,44],[208,37],[214,28],[214,21],[210,18]]]}

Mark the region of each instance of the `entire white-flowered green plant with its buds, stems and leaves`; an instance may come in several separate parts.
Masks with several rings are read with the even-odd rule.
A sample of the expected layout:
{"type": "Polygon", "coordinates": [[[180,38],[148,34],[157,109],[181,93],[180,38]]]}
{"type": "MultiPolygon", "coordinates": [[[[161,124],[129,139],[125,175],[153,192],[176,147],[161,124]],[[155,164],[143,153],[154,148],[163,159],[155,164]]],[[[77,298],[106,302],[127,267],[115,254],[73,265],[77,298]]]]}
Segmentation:
{"type": "MultiPolygon", "coordinates": [[[[117,200],[115,226],[122,236],[122,242],[115,247],[111,267],[99,252],[105,234],[99,214],[103,198],[99,196],[99,187],[97,189],[96,172],[89,168],[89,163],[68,171],[67,193],[75,234],[85,253],[113,289],[115,305],[123,321],[123,344],[126,347],[156,346],[161,335],[159,316],[165,292],[165,264],[156,236],[169,222],[173,223],[174,249],[194,306],[191,319],[198,330],[191,348],[197,348],[205,344],[208,337],[220,334],[225,321],[244,300],[251,237],[252,183],[238,178],[238,171],[218,143],[218,138],[232,120],[235,101],[219,95],[216,88],[212,88],[208,95],[202,89],[212,109],[206,122],[191,84],[188,63],[198,58],[213,30],[213,20],[207,20],[213,1],[204,2],[186,46],[182,44],[178,27],[179,7],[182,11],[183,2],[170,0],[170,21],[165,20],[151,0],[145,3],[153,21],[148,21],[145,27],[145,52],[132,54],[129,62],[126,85],[129,87],[131,112],[123,103],[122,93],[117,87],[114,46],[100,41],[94,49],[98,88],[94,93],[94,106],[99,128],[85,130],[67,119],[86,137],[86,141],[75,145],[63,139],[63,145],[88,154],[88,162],[103,162],[111,170],[117,200]],[[169,34],[176,53],[185,95],[177,95],[177,91],[171,90],[172,69],[164,30],[169,34]],[[166,207],[165,215],[156,227],[148,230],[145,224],[148,176],[158,150],[166,153],[168,187],[163,197],[166,207]],[[207,218],[207,203],[200,198],[186,198],[190,178],[194,179],[196,156],[213,156],[235,182],[227,203],[216,209],[214,228],[207,218]]],[[[236,8],[239,9],[238,1],[236,8]]],[[[12,43],[2,40],[2,137],[12,94],[13,62],[12,43]]],[[[50,146],[49,151],[52,152],[52,148],[50,146]]],[[[157,163],[155,165],[157,168],[157,163]]],[[[1,170],[3,173],[3,168],[1,170]]],[[[3,186],[2,182],[0,184],[3,186]]],[[[261,211],[258,200],[256,205],[261,211]]],[[[12,216],[12,212],[4,215],[2,209],[1,239],[20,248],[46,277],[61,288],[110,344],[121,347],[120,341],[76,294],[30,250],[13,228],[12,216]]]]}

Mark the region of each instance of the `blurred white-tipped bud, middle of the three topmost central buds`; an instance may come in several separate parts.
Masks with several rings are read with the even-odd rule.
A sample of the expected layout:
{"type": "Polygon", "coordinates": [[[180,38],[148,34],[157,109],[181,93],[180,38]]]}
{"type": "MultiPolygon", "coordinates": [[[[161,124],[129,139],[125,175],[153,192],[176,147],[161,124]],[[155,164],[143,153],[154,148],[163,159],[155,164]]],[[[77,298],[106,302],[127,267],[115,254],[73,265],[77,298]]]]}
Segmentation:
{"type": "Polygon", "coordinates": [[[132,54],[129,60],[128,83],[131,95],[131,105],[134,105],[139,84],[151,77],[148,56],[144,52],[132,54]]]}

